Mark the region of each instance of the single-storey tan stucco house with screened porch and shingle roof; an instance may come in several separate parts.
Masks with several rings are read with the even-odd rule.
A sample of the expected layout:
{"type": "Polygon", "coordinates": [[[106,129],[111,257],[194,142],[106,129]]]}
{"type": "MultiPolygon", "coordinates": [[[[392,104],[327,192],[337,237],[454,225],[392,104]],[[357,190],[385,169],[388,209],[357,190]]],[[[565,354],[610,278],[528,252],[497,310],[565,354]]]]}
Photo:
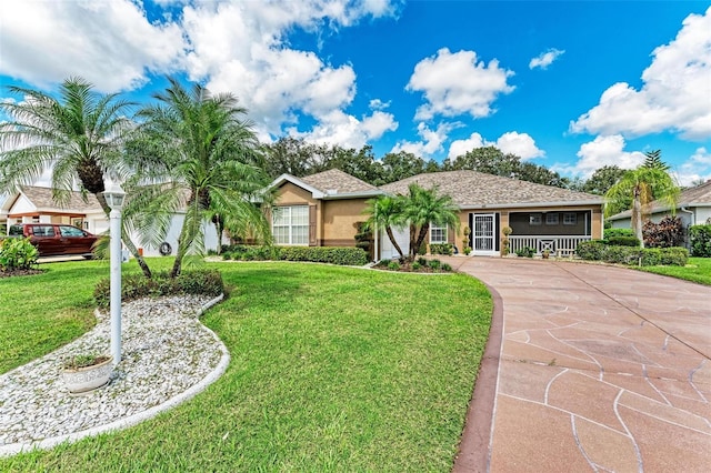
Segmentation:
{"type": "MultiPolygon", "coordinates": [[[[306,178],[282,174],[272,214],[277,244],[353,246],[358,222],[363,222],[365,201],[373,197],[407,194],[418,182],[440,194],[449,194],[460,208],[461,227],[472,232],[467,242],[475,255],[499,255],[501,229],[511,227],[511,251],[530,246],[537,252],[549,249],[561,254],[574,252],[583,240],[602,238],[600,195],[501,178],[475,171],[419,174],[375,188],[342,171],[330,170],[306,178]]],[[[378,232],[375,255],[395,258],[384,232],[378,232]]],[[[462,249],[463,234],[453,229],[430,228],[428,243],[450,242],[462,249]]],[[[404,252],[409,249],[407,229],[395,231],[404,252]]]]}

